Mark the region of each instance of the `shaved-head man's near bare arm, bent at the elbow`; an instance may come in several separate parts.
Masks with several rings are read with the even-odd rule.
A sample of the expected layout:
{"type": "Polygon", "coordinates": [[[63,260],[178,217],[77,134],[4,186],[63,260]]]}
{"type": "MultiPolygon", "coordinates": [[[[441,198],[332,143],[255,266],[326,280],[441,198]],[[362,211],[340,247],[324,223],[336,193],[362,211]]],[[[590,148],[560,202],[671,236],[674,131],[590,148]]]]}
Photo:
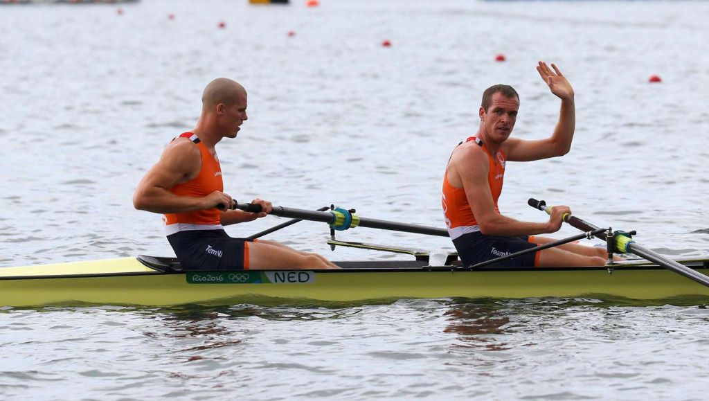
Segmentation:
{"type": "Polygon", "coordinates": [[[214,191],[206,197],[182,197],[169,189],[192,180],[201,169],[199,149],[190,141],[176,141],[165,148],[160,160],[148,170],[133,194],[133,207],[153,213],[180,213],[213,209],[230,204],[231,197],[214,191]]]}

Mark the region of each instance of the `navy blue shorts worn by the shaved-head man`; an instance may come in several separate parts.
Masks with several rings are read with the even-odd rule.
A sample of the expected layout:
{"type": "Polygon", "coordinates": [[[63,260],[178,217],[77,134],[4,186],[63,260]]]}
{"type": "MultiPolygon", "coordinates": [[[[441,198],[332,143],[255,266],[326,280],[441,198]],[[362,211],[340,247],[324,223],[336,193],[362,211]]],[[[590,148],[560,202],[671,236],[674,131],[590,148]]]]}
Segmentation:
{"type": "Polygon", "coordinates": [[[249,242],[224,230],[178,231],[167,236],[184,270],[248,270],[249,242]]]}

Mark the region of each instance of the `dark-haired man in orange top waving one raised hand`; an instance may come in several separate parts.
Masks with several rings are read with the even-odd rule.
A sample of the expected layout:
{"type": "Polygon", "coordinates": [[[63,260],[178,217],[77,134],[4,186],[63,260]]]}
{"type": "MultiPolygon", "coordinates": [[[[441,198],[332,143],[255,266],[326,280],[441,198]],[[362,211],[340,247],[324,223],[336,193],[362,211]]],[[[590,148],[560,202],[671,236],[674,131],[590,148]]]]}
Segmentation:
{"type": "MultiPolygon", "coordinates": [[[[559,231],[569,207],[552,209],[549,221],[518,221],[500,213],[498,199],[507,161],[526,162],[565,155],[571,149],[576,125],[574,89],[556,65],[539,62],[539,72],[552,94],[562,100],[552,136],[525,141],[510,136],[517,120],[520,97],[508,85],[486,89],[475,136],[453,150],[443,178],[442,207],[446,226],[465,265],[475,265],[549,243],[537,234],[559,231]],[[552,70],[553,68],[553,70],[552,70]]],[[[605,248],[568,243],[530,252],[501,262],[508,267],[603,265],[605,248]]]]}

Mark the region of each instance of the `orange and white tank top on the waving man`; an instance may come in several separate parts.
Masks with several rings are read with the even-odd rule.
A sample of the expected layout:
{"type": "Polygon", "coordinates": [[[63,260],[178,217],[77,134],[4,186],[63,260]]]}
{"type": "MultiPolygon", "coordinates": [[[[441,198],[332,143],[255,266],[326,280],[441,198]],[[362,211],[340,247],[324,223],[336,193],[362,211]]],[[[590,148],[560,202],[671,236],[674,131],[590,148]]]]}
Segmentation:
{"type": "MultiPolygon", "coordinates": [[[[492,199],[495,203],[495,212],[500,213],[498,209],[497,201],[500,199],[500,194],[502,193],[502,184],[505,180],[505,155],[498,150],[498,152],[493,156],[490,154],[488,148],[480,138],[475,138],[471,136],[467,138],[464,142],[475,141],[488,155],[488,161],[490,165],[490,172],[488,173],[488,183],[490,185],[490,192],[492,192],[492,199]]],[[[463,142],[458,145],[462,145],[463,142]]],[[[443,194],[441,203],[443,206],[443,216],[445,217],[445,224],[448,229],[448,235],[451,239],[458,238],[463,234],[474,233],[480,231],[473,211],[468,203],[468,198],[465,196],[464,188],[456,188],[450,185],[448,182],[448,168],[446,167],[446,173],[443,177],[443,194]]]]}

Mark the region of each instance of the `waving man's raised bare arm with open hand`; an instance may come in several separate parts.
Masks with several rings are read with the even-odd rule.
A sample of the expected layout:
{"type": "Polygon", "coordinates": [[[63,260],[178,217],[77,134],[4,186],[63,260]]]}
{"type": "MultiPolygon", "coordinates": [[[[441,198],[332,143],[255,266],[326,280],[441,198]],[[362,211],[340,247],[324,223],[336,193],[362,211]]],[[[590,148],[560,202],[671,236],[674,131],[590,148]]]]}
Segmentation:
{"type": "Polygon", "coordinates": [[[554,70],[547,63],[539,62],[537,72],[549,85],[552,94],[562,99],[559,121],[552,136],[539,141],[524,141],[519,138],[508,138],[503,144],[507,160],[526,162],[566,155],[571,150],[571,141],[576,129],[576,108],[574,106],[574,88],[559,68],[552,63],[554,70]]]}

